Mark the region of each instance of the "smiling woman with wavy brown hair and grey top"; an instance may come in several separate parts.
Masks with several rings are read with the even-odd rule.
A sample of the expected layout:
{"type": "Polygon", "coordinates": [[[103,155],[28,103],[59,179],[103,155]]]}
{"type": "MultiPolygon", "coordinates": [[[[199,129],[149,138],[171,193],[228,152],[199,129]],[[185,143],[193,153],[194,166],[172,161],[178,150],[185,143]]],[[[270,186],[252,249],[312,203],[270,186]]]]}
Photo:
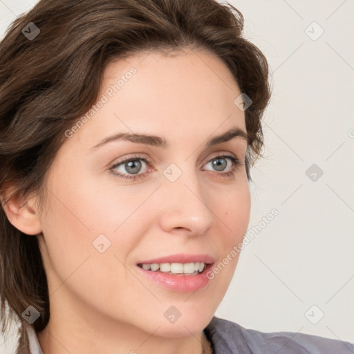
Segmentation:
{"type": "Polygon", "coordinates": [[[17,353],[353,348],[214,317],[270,99],[267,61],[242,30],[213,0],[41,0],[12,24],[0,261],[17,353]]]}

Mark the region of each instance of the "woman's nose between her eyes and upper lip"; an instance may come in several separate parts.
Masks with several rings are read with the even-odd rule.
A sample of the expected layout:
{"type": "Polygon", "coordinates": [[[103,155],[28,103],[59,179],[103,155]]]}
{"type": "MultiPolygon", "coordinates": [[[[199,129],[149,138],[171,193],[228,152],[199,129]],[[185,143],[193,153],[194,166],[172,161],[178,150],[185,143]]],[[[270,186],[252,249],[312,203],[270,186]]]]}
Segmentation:
{"type": "Polygon", "coordinates": [[[174,182],[165,178],[159,196],[159,223],[165,232],[203,235],[216,222],[212,194],[203,189],[195,171],[183,172],[174,182]]]}

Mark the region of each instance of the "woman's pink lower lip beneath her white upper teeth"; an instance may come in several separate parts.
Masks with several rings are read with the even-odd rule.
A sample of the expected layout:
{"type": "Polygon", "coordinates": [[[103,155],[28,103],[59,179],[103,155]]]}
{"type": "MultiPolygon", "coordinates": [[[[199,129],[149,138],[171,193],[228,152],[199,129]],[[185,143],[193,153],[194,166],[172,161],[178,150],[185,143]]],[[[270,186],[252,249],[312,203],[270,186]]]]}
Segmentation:
{"type": "Polygon", "coordinates": [[[152,272],[151,270],[140,268],[138,265],[137,268],[145,277],[165,288],[179,292],[195,292],[205,288],[207,283],[209,283],[206,274],[212,268],[212,264],[205,265],[203,272],[197,275],[171,275],[164,272],[152,272]]]}

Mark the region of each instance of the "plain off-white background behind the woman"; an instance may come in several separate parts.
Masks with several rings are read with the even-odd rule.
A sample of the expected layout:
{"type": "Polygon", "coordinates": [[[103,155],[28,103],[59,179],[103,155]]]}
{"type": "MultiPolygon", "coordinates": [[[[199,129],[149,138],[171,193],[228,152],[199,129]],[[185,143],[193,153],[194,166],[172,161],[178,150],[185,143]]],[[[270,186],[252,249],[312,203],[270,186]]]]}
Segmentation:
{"type": "MultiPolygon", "coordinates": [[[[36,2],[0,0],[0,36],[36,2]]],[[[273,91],[252,172],[257,232],[216,315],[354,342],[354,1],[229,2],[268,59],[273,91]]],[[[0,353],[15,339],[0,337],[0,353]]]]}

